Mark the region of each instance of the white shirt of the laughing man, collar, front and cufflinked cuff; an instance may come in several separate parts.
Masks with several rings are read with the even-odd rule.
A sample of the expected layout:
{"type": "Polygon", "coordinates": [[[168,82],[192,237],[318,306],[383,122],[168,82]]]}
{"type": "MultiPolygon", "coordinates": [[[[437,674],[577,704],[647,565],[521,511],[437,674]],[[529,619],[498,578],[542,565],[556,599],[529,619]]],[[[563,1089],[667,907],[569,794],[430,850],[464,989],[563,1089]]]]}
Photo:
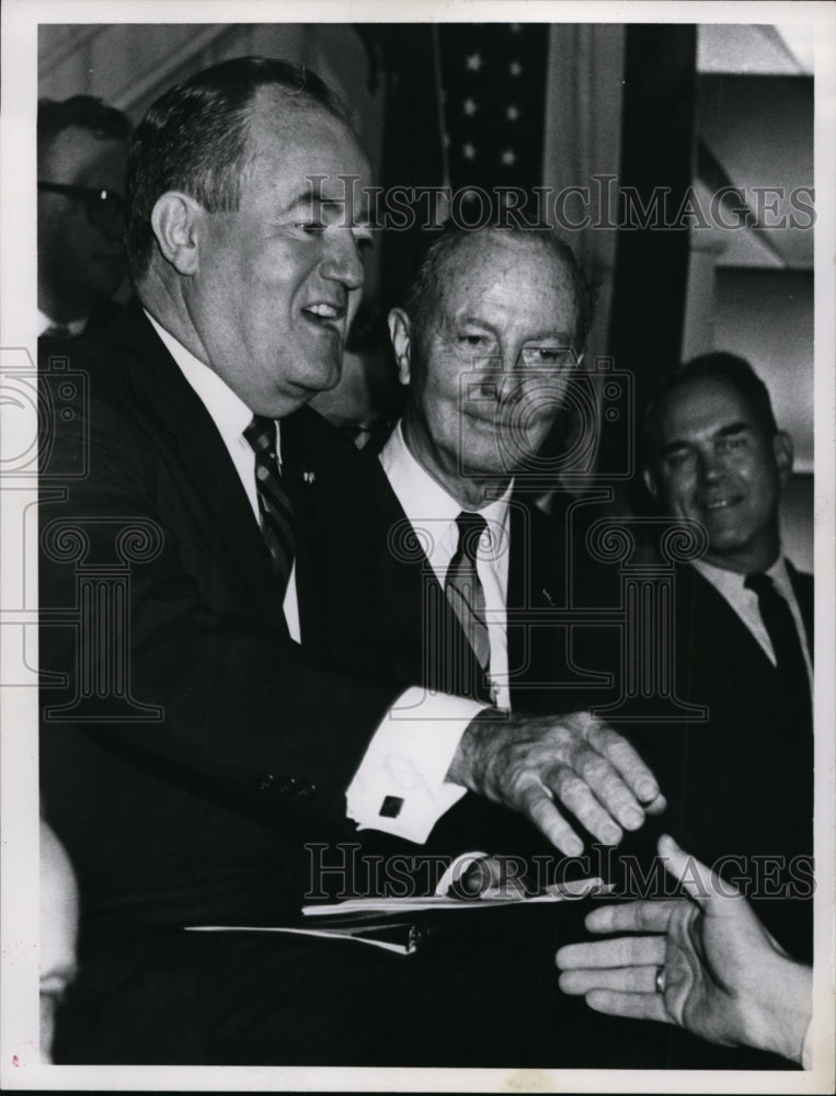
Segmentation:
{"type": "MultiPolygon", "coordinates": [[[[259,522],[255,454],[243,436],[252,411],[214,369],[199,362],[152,316],[146,316],[211,416],[259,522]]],[[[280,463],[278,423],[276,431],[280,463]]],[[[284,613],[291,639],[299,642],[295,564],[284,613]]],[[[359,829],[425,842],[438,819],[466,794],[465,788],[446,781],[445,776],[465,728],[482,708],[462,697],[431,696],[419,687],[406,689],[383,717],[347,789],[348,818],[359,829]],[[400,806],[390,817],[392,803],[400,806]]]]}

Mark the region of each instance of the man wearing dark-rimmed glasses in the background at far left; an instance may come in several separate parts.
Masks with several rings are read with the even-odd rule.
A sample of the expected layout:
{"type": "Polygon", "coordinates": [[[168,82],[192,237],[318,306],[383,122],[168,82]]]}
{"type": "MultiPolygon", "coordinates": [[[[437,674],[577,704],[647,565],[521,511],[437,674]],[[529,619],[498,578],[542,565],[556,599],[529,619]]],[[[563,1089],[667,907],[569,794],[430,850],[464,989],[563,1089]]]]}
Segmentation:
{"type": "Polygon", "coordinates": [[[38,103],[38,336],[78,335],[118,312],[129,135],[127,117],[90,95],[38,103]]]}

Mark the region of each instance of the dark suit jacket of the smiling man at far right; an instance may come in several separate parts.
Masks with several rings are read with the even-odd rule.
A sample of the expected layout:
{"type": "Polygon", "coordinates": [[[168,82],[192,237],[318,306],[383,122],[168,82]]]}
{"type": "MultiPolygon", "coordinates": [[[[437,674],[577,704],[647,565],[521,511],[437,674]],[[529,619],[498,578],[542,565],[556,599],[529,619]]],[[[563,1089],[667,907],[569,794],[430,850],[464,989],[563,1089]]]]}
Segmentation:
{"type": "MultiPolygon", "coordinates": [[[[812,651],[813,580],[791,571],[812,651]]],[[[777,670],[725,598],[692,567],[675,586],[676,693],[708,721],[623,728],[668,809],[625,852],[667,831],[743,880],[758,914],[797,958],[812,958],[813,734],[777,670]]]]}

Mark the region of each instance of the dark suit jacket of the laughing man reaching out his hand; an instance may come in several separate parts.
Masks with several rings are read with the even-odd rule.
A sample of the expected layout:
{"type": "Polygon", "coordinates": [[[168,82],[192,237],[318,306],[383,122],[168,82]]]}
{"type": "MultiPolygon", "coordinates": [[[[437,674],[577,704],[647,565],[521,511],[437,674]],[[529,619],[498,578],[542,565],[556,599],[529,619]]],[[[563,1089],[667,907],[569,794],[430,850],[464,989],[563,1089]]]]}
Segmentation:
{"type": "Polygon", "coordinates": [[[322,607],[351,586],[322,515],[357,517],[358,455],[311,411],[283,422],[300,649],[227,449],[141,311],[59,354],[77,390],[45,443],[41,601],[54,620],[70,616],[43,627],[42,667],[69,680],[43,689],[41,765],[47,817],[80,878],[82,951],[144,928],[297,913],[302,841],[353,833],[344,791],[398,692],[330,667],[322,640],[322,607]],[[139,539],[121,540],[134,526],[139,539]],[[60,550],[76,535],[80,559],[60,550]],[[79,642],[80,584],[121,564],[127,602],[100,605],[95,627],[122,612],[128,646],[113,631],[96,646],[95,629],[79,642]],[[96,696],[85,659],[122,697],[96,696]]]}

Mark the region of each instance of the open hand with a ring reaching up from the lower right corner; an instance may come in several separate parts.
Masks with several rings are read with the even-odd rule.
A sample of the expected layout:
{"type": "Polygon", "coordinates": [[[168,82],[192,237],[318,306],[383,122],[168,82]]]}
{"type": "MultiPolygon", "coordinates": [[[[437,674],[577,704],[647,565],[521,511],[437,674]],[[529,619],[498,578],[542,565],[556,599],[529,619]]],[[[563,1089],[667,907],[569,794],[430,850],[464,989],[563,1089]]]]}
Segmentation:
{"type": "Polygon", "coordinates": [[[593,933],[649,932],[571,944],[557,954],[560,987],[598,1012],[655,1019],[711,1042],[801,1060],[812,971],[764,928],[736,887],[668,836],[659,854],[688,897],[595,910],[593,933]],[[660,984],[657,984],[657,974],[660,984]]]}

